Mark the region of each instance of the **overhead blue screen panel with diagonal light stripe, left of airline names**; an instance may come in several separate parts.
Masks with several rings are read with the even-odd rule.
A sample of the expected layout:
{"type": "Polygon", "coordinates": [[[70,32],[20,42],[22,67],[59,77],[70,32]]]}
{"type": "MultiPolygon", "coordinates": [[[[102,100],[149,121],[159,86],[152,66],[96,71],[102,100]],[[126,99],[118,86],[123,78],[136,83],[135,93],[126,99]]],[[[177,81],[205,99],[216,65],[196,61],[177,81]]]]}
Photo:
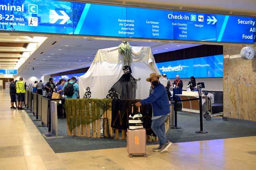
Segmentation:
{"type": "Polygon", "coordinates": [[[81,17],[74,34],[126,37],[126,30],[121,30],[126,26],[120,25],[127,24],[123,22],[126,21],[125,7],[85,4],[82,13],[76,15],[81,17]]]}

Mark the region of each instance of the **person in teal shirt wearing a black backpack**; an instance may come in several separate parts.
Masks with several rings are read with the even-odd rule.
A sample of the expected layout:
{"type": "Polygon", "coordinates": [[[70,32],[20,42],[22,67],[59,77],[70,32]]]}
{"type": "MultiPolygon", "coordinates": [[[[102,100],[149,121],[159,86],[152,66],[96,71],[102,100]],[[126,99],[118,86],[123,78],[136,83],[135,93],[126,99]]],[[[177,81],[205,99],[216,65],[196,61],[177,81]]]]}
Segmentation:
{"type": "Polygon", "coordinates": [[[77,98],[78,93],[79,93],[79,86],[77,82],[75,81],[75,77],[71,77],[69,81],[67,81],[64,86],[64,95],[66,98],[77,98]]]}

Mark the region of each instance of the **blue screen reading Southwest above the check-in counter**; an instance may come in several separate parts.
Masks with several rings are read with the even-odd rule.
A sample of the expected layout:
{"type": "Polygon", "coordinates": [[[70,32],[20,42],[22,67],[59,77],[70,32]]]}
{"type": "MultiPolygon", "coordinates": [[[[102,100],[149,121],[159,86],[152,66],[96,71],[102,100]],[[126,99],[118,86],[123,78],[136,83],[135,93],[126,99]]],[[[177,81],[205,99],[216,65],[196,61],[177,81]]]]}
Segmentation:
{"type": "Polygon", "coordinates": [[[175,78],[176,75],[181,78],[223,77],[223,55],[159,62],[156,65],[160,73],[168,78],[175,78]]]}

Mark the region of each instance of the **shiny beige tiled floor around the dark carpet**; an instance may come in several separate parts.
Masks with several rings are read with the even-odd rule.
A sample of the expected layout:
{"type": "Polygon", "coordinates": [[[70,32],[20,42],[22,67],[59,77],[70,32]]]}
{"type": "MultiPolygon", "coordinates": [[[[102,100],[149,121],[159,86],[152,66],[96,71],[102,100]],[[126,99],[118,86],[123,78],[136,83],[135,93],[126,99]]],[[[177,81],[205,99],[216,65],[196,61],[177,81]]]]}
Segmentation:
{"type": "Polygon", "coordinates": [[[25,111],[0,92],[0,170],[256,170],[256,136],[176,143],[129,158],[126,148],[54,153],[25,111]]]}

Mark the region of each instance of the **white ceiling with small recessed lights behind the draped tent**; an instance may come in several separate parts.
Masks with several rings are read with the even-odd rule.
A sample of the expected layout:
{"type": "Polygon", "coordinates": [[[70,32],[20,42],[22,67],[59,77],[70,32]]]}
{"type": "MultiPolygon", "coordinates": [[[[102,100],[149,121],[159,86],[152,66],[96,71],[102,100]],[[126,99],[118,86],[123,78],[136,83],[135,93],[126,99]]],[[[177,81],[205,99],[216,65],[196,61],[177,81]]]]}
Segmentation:
{"type": "MultiPolygon", "coordinates": [[[[89,67],[98,49],[116,47],[121,42],[121,40],[95,40],[92,38],[47,38],[21,65],[18,74],[40,76],[89,67]]],[[[151,47],[154,54],[198,45],[148,41],[128,42],[133,46],[151,47]]]]}

